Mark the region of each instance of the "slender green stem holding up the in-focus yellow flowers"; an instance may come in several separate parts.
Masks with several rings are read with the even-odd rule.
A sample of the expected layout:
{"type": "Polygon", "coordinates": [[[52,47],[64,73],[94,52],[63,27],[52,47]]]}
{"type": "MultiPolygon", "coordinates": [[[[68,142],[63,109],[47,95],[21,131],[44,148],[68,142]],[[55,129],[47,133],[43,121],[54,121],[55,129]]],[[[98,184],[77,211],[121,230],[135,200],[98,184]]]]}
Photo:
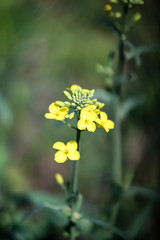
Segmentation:
{"type": "MultiPolygon", "coordinates": [[[[79,120],[79,118],[78,118],[79,120]]],[[[78,121],[77,121],[78,122],[78,121]]],[[[80,137],[81,137],[81,131],[77,128],[77,136],[76,136],[76,142],[78,144],[78,151],[80,149],[80,137]]],[[[77,195],[78,195],[78,172],[79,172],[79,160],[74,161],[73,165],[73,175],[72,175],[72,196],[73,196],[73,201],[71,202],[71,209],[72,209],[72,215],[70,218],[70,240],[75,240],[76,239],[76,226],[73,222],[74,220],[74,211],[76,210],[76,205],[77,205],[77,195]]]]}

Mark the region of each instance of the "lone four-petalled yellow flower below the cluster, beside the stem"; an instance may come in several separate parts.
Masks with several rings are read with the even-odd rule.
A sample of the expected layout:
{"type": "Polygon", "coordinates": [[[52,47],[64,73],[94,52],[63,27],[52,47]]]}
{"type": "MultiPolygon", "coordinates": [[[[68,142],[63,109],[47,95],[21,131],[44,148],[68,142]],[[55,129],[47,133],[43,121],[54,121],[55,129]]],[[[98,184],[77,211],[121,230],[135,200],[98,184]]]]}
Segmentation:
{"type": "Polygon", "coordinates": [[[72,161],[80,159],[80,153],[77,151],[78,145],[75,141],[70,141],[66,145],[63,142],[56,142],[53,148],[59,150],[54,158],[58,163],[64,163],[68,158],[72,161]]]}

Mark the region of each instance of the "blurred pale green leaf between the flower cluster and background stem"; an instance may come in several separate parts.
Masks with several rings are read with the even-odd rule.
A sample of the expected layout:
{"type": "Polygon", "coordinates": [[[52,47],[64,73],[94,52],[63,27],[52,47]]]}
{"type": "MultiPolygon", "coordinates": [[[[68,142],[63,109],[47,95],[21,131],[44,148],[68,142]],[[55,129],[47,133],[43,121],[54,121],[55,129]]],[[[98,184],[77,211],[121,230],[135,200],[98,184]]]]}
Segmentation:
{"type": "Polygon", "coordinates": [[[112,104],[117,100],[117,95],[116,94],[112,94],[106,90],[103,89],[97,89],[95,91],[94,96],[96,98],[102,99],[104,103],[106,104],[112,104]]]}

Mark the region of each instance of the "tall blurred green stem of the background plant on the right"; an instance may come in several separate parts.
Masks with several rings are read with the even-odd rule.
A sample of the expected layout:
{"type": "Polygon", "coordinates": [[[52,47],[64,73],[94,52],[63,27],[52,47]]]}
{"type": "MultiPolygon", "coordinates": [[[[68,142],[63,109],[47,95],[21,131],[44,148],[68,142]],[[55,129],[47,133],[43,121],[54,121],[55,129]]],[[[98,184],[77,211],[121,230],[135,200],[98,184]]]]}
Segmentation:
{"type": "MultiPolygon", "coordinates": [[[[124,76],[125,56],[124,56],[124,39],[125,39],[125,24],[126,16],[128,14],[128,5],[123,8],[123,17],[121,22],[121,34],[118,35],[118,66],[116,78],[124,76]]],[[[115,83],[116,84],[116,83],[115,83]]],[[[114,104],[114,122],[115,131],[113,133],[113,181],[118,185],[122,185],[122,131],[121,120],[119,118],[119,109],[121,107],[121,84],[117,84],[114,87],[114,91],[117,95],[117,101],[114,104]]]]}

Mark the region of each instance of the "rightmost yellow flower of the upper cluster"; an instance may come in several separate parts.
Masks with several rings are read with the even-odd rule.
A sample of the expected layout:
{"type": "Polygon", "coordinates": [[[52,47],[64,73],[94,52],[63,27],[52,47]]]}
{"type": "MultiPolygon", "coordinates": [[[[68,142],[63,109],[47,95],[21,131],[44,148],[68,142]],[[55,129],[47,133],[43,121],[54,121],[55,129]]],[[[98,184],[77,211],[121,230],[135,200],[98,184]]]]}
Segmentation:
{"type": "Polygon", "coordinates": [[[106,132],[109,132],[109,129],[114,128],[114,122],[108,120],[107,114],[105,112],[100,112],[100,118],[96,119],[98,127],[104,128],[106,132]]]}

